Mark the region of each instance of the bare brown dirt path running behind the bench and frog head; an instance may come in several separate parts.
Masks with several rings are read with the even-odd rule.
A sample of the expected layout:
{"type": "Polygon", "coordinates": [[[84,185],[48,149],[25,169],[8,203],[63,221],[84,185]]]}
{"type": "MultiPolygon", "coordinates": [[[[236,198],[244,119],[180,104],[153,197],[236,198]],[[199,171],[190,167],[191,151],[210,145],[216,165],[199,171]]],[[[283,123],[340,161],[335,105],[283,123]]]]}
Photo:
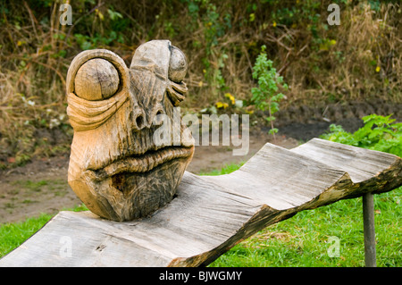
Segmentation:
{"type": "MultiPolygon", "coordinates": [[[[231,147],[196,147],[188,172],[210,172],[221,169],[227,163],[246,162],[267,142],[285,148],[297,147],[311,138],[319,137],[334,122],[303,118],[297,121],[285,124],[278,122],[280,132],[275,140],[268,135],[267,127],[252,127],[249,152],[244,156],[233,156],[231,147]]],[[[348,131],[357,130],[363,125],[358,118],[341,119],[337,123],[348,131]]],[[[0,224],[23,221],[41,213],[56,214],[63,208],[80,205],[80,199],[67,183],[68,163],[69,154],[63,154],[35,159],[22,167],[0,171],[0,224]]]]}

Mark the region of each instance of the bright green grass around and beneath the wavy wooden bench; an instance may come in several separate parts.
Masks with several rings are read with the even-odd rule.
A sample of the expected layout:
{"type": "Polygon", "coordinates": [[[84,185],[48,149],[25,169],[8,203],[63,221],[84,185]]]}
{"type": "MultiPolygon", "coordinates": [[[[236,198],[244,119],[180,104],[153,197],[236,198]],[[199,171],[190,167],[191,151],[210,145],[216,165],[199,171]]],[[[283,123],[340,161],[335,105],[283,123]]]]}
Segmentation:
{"type": "MultiPolygon", "coordinates": [[[[242,165],[228,164],[201,175],[221,175],[242,165]]],[[[374,197],[377,265],[402,266],[402,187],[374,197]]],[[[232,247],[213,267],[359,267],[364,266],[362,198],[342,200],[298,213],[273,224],[232,247]],[[331,257],[339,240],[339,256],[331,257]]],[[[73,211],[87,210],[84,205],[73,211]]],[[[38,231],[52,215],[42,214],[25,222],[0,225],[0,257],[38,231]]]]}

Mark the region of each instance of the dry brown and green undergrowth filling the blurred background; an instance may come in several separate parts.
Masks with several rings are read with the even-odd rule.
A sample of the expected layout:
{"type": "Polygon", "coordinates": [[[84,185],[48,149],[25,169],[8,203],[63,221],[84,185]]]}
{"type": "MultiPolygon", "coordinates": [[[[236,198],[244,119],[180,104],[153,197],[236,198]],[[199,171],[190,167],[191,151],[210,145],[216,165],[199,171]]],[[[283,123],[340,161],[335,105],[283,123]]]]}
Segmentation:
{"type": "Polygon", "coordinates": [[[0,168],[52,155],[38,130],[71,141],[65,76],[89,48],[111,49],[130,65],[141,43],[169,38],[190,62],[182,107],[192,113],[217,102],[229,105],[218,112],[232,111],[228,93],[253,111],[252,63],[263,45],[289,84],[281,108],[402,100],[398,1],[339,0],[340,26],[326,21],[330,0],[79,0],[70,1],[71,26],[59,21],[63,2],[0,1],[0,168]]]}

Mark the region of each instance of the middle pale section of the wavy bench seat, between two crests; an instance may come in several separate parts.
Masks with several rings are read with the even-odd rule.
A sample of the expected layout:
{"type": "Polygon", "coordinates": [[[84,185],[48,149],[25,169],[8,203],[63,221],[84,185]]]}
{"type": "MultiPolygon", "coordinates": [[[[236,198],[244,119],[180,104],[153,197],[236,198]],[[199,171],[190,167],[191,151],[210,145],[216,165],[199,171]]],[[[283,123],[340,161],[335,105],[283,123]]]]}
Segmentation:
{"type": "Polygon", "coordinates": [[[271,144],[239,171],[205,179],[277,210],[303,205],[339,180],[350,183],[346,172],[271,144]]]}

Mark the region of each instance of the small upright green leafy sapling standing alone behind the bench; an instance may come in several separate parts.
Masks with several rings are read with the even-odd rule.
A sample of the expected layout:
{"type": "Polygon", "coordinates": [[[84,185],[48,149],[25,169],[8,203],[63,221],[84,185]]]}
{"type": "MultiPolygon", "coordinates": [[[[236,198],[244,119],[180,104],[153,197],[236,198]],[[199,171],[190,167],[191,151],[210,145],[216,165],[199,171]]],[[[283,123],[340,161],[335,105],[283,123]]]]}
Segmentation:
{"type": "Polygon", "coordinates": [[[279,102],[285,95],[279,92],[279,88],[287,89],[288,85],[283,83],[283,78],[272,67],[272,61],[267,59],[266,46],[261,47],[261,54],[258,55],[253,68],[253,78],[258,80],[258,88],[252,88],[251,100],[261,111],[268,111],[267,122],[271,123],[270,133],[275,137],[278,129],[273,128],[274,113],[279,111],[279,102]]]}

